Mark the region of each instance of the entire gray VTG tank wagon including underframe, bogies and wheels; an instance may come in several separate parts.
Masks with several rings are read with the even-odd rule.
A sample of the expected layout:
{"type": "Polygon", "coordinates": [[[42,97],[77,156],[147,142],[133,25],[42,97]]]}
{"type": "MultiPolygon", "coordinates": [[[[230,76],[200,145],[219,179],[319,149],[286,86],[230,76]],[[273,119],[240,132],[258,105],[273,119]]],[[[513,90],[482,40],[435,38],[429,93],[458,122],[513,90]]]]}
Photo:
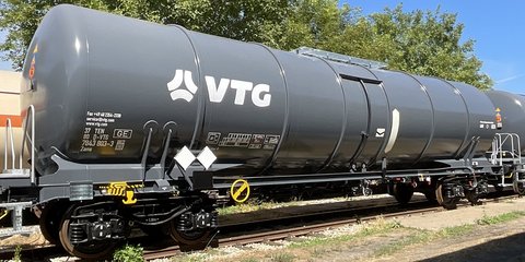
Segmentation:
{"type": "Polygon", "coordinates": [[[525,136],[513,99],[523,102],[59,5],[23,69],[32,168],[0,175],[1,200],[31,201],[45,237],[88,259],[109,253],[130,224],[207,245],[217,204],[241,201],[248,183],[364,194],[384,184],[400,203],[420,191],[455,209],[489,184],[523,192],[523,147],[498,140],[525,136]]]}

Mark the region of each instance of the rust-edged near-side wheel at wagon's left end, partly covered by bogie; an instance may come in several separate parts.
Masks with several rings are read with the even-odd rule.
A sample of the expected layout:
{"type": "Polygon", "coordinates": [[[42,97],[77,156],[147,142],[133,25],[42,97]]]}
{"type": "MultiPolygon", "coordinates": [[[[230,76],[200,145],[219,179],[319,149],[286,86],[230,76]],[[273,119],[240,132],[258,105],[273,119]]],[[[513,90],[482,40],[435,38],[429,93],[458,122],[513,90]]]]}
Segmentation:
{"type": "Polygon", "coordinates": [[[72,224],[72,215],[74,214],[74,210],[77,205],[71,205],[68,211],[63,214],[62,221],[60,223],[60,243],[62,245],[63,249],[75,257],[85,260],[98,260],[101,258],[107,258],[110,255],[117,245],[116,241],[96,241],[96,242],[89,242],[89,243],[77,243],[73,245],[71,242],[71,227],[72,224]]]}

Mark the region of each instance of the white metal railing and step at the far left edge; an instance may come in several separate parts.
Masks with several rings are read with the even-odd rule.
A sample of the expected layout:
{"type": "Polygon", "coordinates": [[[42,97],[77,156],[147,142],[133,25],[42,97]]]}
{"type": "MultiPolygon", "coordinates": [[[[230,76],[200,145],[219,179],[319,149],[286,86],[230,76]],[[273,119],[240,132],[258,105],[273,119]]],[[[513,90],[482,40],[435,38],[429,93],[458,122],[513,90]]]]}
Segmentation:
{"type": "MultiPolygon", "coordinates": [[[[23,139],[22,139],[22,146],[21,152],[19,155],[19,167],[16,168],[16,154],[14,151],[14,134],[13,134],[13,127],[11,119],[5,120],[5,138],[4,138],[4,165],[3,169],[0,172],[0,180],[5,179],[28,179],[31,184],[36,184],[36,175],[35,175],[35,162],[31,162],[31,169],[26,169],[23,167],[24,160],[24,152],[27,148],[28,153],[31,154],[31,159],[35,159],[35,145],[33,143],[35,141],[35,107],[32,105],[27,108],[27,115],[24,121],[23,128],[23,139]],[[30,134],[27,134],[28,129],[31,128],[30,134]],[[27,146],[26,146],[26,141],[27,146]],[[11,165],[9,165],[11,160],[11,165]]],[[[2,183],[0,183],[1,186],[2,183]]],[[[2,188],[0,187],[0,190],[2,188]]],[[[0,210],[4,211],[4,215],[7,212],[11,211],[11,219],[13,224],[12,230],[4,231],[0,235],[0,237],[12,236],[15,234],[30,234],[31,231],[24,230],[22,226],[22,211],[24,209],[31,207],[33,205],[32,202],[0,202],[0,210]]]]}

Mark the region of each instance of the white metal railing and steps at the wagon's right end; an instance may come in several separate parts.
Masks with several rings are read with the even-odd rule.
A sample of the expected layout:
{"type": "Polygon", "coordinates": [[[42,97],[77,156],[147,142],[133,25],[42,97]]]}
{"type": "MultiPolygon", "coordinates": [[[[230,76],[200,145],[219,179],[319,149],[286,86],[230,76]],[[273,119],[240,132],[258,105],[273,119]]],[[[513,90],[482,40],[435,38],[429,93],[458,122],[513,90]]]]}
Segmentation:
{"type": "Polygon", "coordinates": [[[522,146],[520,144],[518,134],[497,133],[492,141],[490,160],[492,165],[512,165],[514,168],[510,176],[501,176],[501,181],[498,186],[512,186],[516,193],[525,193],[525,166],[523,164],[522,146]],[[505,182],[505,178],[512,178],[512,183],[505,182]]]}

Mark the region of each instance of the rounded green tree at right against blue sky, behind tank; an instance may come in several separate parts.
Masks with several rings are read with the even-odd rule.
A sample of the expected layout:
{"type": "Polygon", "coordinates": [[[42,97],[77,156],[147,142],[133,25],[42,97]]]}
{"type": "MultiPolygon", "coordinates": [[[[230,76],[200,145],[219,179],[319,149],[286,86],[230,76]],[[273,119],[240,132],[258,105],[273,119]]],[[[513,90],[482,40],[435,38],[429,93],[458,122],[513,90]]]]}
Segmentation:
{"type": "Polygon", "coordinates": [[[435,11],[404,12],[402,5],[358,17],[345,27],[332,50],[388,63],[389,69],[433,75],[489,88],[474,55],[472,39],[460,43],[464,25],[456,14],[435,11]]]}

